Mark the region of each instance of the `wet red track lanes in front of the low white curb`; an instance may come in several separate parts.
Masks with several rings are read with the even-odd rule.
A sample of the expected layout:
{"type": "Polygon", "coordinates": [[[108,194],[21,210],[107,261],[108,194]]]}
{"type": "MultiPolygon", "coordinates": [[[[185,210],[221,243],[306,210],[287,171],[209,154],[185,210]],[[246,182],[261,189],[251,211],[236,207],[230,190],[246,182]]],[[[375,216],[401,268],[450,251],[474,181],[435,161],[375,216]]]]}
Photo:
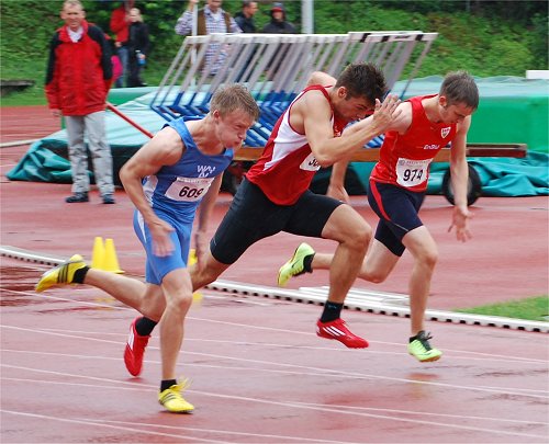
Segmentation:
{"type": "Polygon", "coordinates": [[[408,321],[357,311],[370,341],[316,338],[320,307],[204,291],[180,368],[192,415],[156,402],[158,338],[131,378],[135,316],[89,287],[35,294],[42,269],[4,263],[1,434],[5,443],[546,443],[547,335],[432,326],[445,356],[406,354],[408,321]]]}

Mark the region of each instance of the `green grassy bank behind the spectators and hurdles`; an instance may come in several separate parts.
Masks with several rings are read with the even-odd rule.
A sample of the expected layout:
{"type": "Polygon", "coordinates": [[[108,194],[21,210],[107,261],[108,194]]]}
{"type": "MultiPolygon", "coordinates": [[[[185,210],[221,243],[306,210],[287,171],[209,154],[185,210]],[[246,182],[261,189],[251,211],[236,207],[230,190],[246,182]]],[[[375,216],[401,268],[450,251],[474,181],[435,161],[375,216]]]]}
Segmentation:
{"type": "MultiPolygon", "coordinates": [[[[3,96],[2,105],[44,104],[43,83],[48,42],[61,21],[60,1],[0,2],[1,78],[30,79],[34,87],[23,94],[3,96]],[[25,32],[32,30],[32,32],[25,32]]],[[[116,1],[83,1],[89,21],[109,31],[116,1]]],[[[271,2],[260,1],[255,20],[268,22],[271,2]]],[[[181,43],[173,25],[187,1],[137,1],[153,41],[144,77],[157,86],[181,43]]],[[[224,8],[238,11],[238,0],[224,8]]],[[[285,1],[288,20],[300,27],[301,2],[285,1]]],[[[528,69],[548,68],[548,20],[545,1],[484,2],[345,0],[314,2],[315,33],[348,31],[421,30],[439,37],[415,77],[442,76],[467,69],[477,77],[525,76],[528,69]]],[[[410,72],[405,72],[406,75],[410,72]]]]}

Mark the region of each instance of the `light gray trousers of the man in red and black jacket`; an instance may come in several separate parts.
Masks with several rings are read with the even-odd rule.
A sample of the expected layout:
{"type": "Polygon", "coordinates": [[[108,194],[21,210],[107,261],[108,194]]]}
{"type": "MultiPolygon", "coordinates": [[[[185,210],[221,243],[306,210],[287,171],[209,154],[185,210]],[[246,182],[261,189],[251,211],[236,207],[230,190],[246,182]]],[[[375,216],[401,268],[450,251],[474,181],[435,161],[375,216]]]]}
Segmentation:
{"type": "Polygon", "coordinates": [[[99,111],[88,115],[65,116],[67,127],[68,152],[72,173],[72,193],[83,193],[90,190],[88,177],[88,152],[85,144],[85,132],[93,163],[96,184],[101,195],[114,193],[112,181],[112,153],[107,143],[104,128],[104,112],[99,111]]]}

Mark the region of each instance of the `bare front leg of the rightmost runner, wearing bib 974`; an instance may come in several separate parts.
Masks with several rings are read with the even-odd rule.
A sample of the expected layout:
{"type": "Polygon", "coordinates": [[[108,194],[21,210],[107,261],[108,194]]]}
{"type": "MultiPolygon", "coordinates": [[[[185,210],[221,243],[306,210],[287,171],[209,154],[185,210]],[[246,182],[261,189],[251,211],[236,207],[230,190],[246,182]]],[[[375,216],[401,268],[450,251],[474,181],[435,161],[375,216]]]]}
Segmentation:
{"type": "Polygon", "coordinates": [[[414,258],[414,266],[410,276],[410,316],[411,335],[424,330],[424,317],[429,297],[430,281],[438,260],[438,248],[425,226],[417,227],[406,234],[402,243],[414,258]]]}

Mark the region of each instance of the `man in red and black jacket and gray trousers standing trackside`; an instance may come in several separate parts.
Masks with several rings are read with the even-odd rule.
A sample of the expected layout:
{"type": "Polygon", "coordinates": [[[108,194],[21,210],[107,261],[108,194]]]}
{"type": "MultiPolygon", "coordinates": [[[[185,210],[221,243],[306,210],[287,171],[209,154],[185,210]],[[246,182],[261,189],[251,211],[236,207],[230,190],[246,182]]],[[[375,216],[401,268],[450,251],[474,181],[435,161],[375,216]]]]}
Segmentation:
{"type": "Polygon", "coordinates": [[[114,204],[112,153],[104,128],[105,99],[112,82],[111,52],[103,31],[86,21],[79,0],[66,0],[65,25],[52,38],[45,92],[54,116],[65,116],[72,172],[68,203],[88,202],[90,180],[85,132],[96,184],[104,204],[114,204]]]}

